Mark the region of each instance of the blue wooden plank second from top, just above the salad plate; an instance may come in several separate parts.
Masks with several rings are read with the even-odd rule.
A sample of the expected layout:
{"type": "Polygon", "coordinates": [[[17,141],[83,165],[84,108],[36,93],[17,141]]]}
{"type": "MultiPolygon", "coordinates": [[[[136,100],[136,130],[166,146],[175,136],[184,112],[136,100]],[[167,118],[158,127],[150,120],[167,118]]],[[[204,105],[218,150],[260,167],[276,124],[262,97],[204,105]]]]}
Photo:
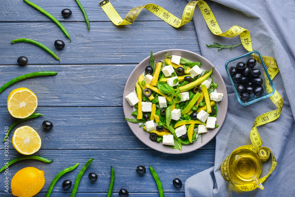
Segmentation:
{"type": "Polygon", "coordinates": [[[17,64],[26,56],[29,64],[126,64],[139,63],[150,51],[185,49],[200,53],[194,23],[175,29],[165,22],[135,22],[116,27],[111,22],[93,22],[88,32],[84,23],[63,22],[72,43],[53,22],[0,23],[0,64],[17,64]],[[44,50],[30,43],[11,44],[17,38],[30,38],[49,47],[60,63],[44,50]],[[65,48],[54,47],[63,40],[65,48]]]}

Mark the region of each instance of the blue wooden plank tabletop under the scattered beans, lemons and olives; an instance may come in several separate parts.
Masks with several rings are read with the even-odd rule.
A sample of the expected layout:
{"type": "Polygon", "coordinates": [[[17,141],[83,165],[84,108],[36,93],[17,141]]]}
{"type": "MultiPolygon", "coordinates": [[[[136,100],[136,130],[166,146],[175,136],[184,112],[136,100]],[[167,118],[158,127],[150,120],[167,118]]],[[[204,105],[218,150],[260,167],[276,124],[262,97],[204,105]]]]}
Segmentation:
{"type": "MultiPolygon", "coordinates": [[[[0,173],[0,196],[12,196],[12,177],[28,166],[45,172],[45,185],[36,195],[45,196],[55,175],[79,162],[79,166],[60,178],[53,189],[52,196],[69,196],[73,185],[71,189],[64,190],[61,186],[63,181],[70,179],[74,183],[83,165],[93,157],[94,161],[81,179],[77,196],[106,196],[110,165],[115,170],[112,196],[119,196],[121,188],[126,188],[130,196],[158,196],[157,185],[148,170],[149,164],[158,173],[165,196],[185,196],[184,186],[176,189],[172,180],[180,178],[184,184],[191,175],[212,167],[215,138],[201,149],[182,155],[155,151],[137,139],[128,127],[124,119],[122,95],[130,73],[149,56],[151,50],[185,49],[201,54],[194,23],[189,22],[176,29],[143,10],[132,25],[116,27],[99,6],[99,1],[81,0],[90,20],[88,32],[83,14],[74,0],[32,2],[56,17],[68,30],[72,42],[54,22],[24,1],[0,2],[0,86],[26,73],[58,72],[55,76],[18,82],[0,94],[0,137],[4,137],[4,128],[10,127],[16,120],[7,110],[9,93],[15,88],[29,88],[38,98],[36,112],[45,116],[25,121],[17,127],[33,127],[42,139],[41,149],[35,155],[54,158],[54,162],[45,164],[27,160],[9,167],[9,175],[0,173]],[[65,8],[73,12],[67,19],[61,15],[61,10],[65,8]],[[60,63],[35,45],[12,45],[10,42],[23,37],[49,47],[58,55],[60,63]],[[53,45],[58,39],[65,42],[63,50],[57,50],[53,45]],[[17,65],[17,58],[22,55],[29,59],[29,65],[17,65]],[[53,122],[53,129],[45,131],[41,125],[44,120],[53,122]],[[136,172],[137,165],[147,168],[144,176],[136,172]],[[98,175],[94,183],[88,178],[90,172],[98,175]],[[9,194],[4,192],[5,176],[9,176],[9,194]]],[[[131,8],[147,3],[156,3],[181,17],[187,4],[185,0],[111,2],[122,17],[131,8]]],[[[11,141],[7,157],[4,156],[4,144],[0,149],[1,165],[4,158],[22,156],[11,141]]]]}

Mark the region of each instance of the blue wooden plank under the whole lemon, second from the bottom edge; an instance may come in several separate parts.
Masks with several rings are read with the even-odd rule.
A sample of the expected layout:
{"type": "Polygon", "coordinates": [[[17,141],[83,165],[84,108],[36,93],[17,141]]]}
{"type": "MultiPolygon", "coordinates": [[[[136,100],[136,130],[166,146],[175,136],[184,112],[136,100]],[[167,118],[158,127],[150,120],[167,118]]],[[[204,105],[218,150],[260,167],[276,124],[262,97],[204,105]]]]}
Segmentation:
{"type": "MultiPolygon", "coordinates": [[[[0,154],[4,155],[4,151],[1,150],[0,154]]],[[[130,192],[157,192],[157,185],[148,169],[149,164],[157,172],[165,192],[184,192],[184,186],[181,189],[176,189],[173,186],[173,179],[181,179],[184,185],[185,180],[190,176],[212,167],[215,151],[200,150],[182,155],[167,155],[155,150],[39,150],[36,155],[48,159],[53,158],[54,161],[49,164],[35,160],[15,163],[9,167],[9,183],[18,170],[32,166],[44,171],[45,186],[41,192],[47,192],[57,173],[79,162],[79,166],[65,174],[53,188],[53,192],[65,192],[61,187],[63,181],[70,179],[74,184],[83,165],[87,160],[94,157],[94,161],[82,176],[78,192],[107,192],[110,183],[110,165],[115,170],[114,192],[119,192],[121,188],[126,188],[130,192]],[[145,175],[139,175],[136,172],[137,165],[145,166],[147,170],[145,175]],[[91,183],[88,178],[88,174],[91,172],[98,175],[98,179],[94,183],[91,183]]],[[[7,158],[12,159],[17,156],[21,155],[15,150],[10,150],[7,158]]],[[[2,172],[1,183],[4,183],[4,179],[5,176],[2,172]]],[[[9,188],[9,191],[11,191],[11,188],[9,188]]]]}

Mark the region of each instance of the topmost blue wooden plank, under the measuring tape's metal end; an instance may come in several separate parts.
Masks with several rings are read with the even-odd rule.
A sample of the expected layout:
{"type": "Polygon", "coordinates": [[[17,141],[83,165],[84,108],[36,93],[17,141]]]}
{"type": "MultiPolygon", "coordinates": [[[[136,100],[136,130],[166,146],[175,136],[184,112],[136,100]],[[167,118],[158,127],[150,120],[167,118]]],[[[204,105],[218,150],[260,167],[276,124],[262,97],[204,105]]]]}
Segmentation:
{"type": "MultiPolygon", "coordinates": [[[[81,21],[84,22],[84,16],[75,1],[59,1],[51,0],[31,0],[31,2],[45,9],[47,12],[52,14],[60,22],[62,21],[81,21]],[[69,18],[64,18],[61,15],[61,11],[65,8],[71,9],[72,15],[69,18]]],[[[96,0],[81,0],[89,21],[110,21],[104,11],[99,6],[99,1],[96,0]]],[[[150,1],[150,0],[129,0],[129,1],[110,1],[114,8],[117,10],[119,15],[124,18],[130,9],[145,5],[148,3],[155,3],[164,9],[168,10],[178,18],[182,17],[183,9],[185,8],[187,1],[185,0],[165,0],[165,1],[150,1]]],[[[11,1],[2,0],[0,4],[0,21],[42,21],[48,22],[49,18],[26,4],[24,1],[11,1]]],[[[199,12],[198,14],[201,14],[199,12]]],[[[137,17],[136,21],[150,21],[150,20],[161,20],[154,14],[147,10],[143,10],[142,13],[137,17]]],[[[91,25],[91,24],[90,24],[91,25]]],[[[86,24],[85,24],[85,27],[86,24]]]]}

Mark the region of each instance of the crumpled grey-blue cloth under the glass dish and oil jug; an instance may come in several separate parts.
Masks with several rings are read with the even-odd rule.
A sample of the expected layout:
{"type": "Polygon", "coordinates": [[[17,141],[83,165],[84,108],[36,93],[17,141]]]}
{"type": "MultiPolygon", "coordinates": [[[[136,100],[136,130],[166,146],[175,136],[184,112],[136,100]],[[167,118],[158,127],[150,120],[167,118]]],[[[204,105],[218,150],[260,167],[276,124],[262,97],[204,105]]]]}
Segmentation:
{"type": "MultiPolygon", "coordinates": [[[[187,0],[188,1],[188,0],[187,0]]],[[[228,109],[222,128],[216,135],[214,167],[193,175],[185,182],[186,197],[191,196],[295,196],[295,1],[215,0],[206,1],[217,22],[226,31],[237,25],[250,31],[253,50],[276,59],[280,72],[273,79],[284,100],[281,116],[257,127],[263,146],[269,147],[278,165],[259,188],[242,192],[226,182],[221,175],[223,160],[237,147],[251,144],[250,130],[257,116],[276,109],[270,98],[248,106],[238,103],[224,64],[227,60],[247,53],[242,45],[229,49],[209,49],[206,44],[236,45],[240,37],[213,35],[199,8],[195,9],[194,24],[202,56],[216,66],[227,87],[228,109]]],[[[260,178],[270,169],[271,159],[263,164],[260,178]]]]}

